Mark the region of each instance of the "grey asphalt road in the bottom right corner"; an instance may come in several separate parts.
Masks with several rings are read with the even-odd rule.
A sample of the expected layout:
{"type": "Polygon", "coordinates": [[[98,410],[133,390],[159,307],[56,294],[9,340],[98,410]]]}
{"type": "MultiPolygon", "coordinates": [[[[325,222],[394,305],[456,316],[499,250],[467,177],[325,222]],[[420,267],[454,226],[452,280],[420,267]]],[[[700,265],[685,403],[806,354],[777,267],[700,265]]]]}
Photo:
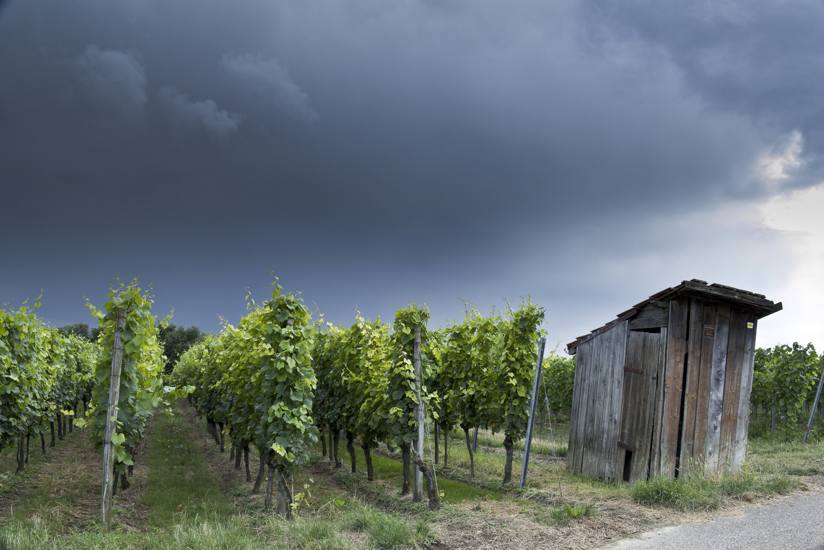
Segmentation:
{"type": "Polygon", "coordinates": [[[625,538],[620,550],[824,550],[824,492],[700,524],[667,527],[625,538]]]}

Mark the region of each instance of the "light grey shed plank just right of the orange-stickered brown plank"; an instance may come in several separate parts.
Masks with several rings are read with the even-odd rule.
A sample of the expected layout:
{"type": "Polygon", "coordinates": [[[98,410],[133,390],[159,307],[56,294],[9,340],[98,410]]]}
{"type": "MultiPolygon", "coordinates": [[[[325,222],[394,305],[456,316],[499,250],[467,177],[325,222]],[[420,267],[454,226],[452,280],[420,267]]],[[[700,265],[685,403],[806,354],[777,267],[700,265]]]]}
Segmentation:
{"type": "Polygon", "coordinates": [[[719,467],[721,447],[721,413],[723,412],[723,384],[727,374],[727,344],[729,336],[730,307],[719,304],[715,308],[715,334],[713,338],[713,362],[709,380],[707,408],[707,436],[705,440],[705,472],[715,472],[719,467]]]}

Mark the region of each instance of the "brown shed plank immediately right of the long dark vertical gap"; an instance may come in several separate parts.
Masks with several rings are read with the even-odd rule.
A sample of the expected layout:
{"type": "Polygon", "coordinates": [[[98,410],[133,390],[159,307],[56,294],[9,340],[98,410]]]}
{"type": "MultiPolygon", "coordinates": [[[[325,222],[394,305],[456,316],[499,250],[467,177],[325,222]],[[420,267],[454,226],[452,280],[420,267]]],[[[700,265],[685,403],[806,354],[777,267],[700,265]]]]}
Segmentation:
{"type": "Polygon", "coordinates": [[[692,452],[695,447],[695,409],[698,405],[698,381],[701,370],[701,335],[704,329],[704,301],[690,300],[690,326],[687,328],[686,388],[684,413],[681,418],[681,456],[678,457],[678,478],[689,479],[692,452]]]}

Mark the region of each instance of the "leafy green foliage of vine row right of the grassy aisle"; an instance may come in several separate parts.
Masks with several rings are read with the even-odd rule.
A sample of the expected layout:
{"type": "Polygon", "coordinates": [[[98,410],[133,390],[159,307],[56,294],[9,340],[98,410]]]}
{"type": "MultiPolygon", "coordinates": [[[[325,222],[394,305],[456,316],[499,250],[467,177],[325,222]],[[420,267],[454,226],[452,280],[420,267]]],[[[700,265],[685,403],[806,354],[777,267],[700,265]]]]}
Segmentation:
{"type": "Polygon", "coordinates": [[[269,450],[280,469],[307,463],[318,431],[312,426],[316,388],[311,352],[315,329],[299,295],[283,293],[277,278],[272,298],[237,327],[190,347],[172,371],[176,384],[194,385],[193,399],[236,440],[269,450]]]}

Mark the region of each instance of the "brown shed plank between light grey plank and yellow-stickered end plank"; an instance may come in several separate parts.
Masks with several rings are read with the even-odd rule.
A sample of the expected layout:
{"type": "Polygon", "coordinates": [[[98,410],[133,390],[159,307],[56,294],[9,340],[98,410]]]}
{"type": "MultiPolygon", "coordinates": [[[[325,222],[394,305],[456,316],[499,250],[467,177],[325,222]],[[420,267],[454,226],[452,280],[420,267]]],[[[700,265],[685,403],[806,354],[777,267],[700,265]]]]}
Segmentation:
{"type": "Polygon", "coordinates": [[[727,343],[727,372],[723,383],[719,468],[727,471],[733,462],[735,432],[738,422],[738,399],[741,395],[741,375],[744,366],[744,338],[747,335],[747,315],[738,308],[730,312],[727,343]]]}

